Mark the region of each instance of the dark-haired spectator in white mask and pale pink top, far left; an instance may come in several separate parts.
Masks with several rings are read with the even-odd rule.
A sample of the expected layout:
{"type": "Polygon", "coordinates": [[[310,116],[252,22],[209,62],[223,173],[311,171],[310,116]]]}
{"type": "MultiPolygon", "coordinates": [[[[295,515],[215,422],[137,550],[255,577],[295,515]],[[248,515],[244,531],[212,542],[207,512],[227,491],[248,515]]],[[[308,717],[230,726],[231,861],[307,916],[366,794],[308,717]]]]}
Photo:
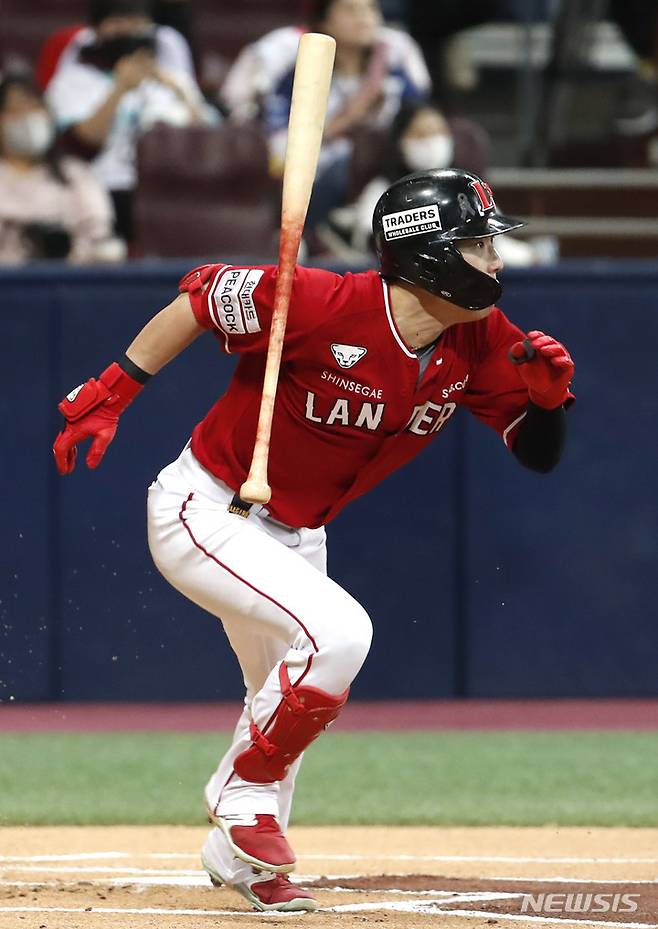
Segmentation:
{"type": "Polygon", "coordinates": [[[112,204],[80,161],[61,157],[55,125],[24,75],[0,83],[0,263],[113,261],[112,204]]]}

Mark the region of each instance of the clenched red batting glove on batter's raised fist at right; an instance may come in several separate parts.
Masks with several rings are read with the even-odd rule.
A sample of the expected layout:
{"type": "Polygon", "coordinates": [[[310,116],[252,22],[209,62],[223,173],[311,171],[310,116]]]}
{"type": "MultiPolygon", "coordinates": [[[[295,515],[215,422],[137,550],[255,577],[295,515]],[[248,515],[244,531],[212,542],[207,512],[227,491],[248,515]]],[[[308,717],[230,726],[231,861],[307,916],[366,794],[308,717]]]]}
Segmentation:
{"type": "MultiPolygon", "coordinates": [[[[554,410],[569,397],[569,384],[574,373],[574,363],[567,349],[550,335],[533,330],[524,340],[534,349],[533,357],[519,364],[519,374],[528,386],[528,396],[545,410],[554,410]]],[[[527,345],[515,342],[510,355],[523,361],[527,358],[527,345]]]]}

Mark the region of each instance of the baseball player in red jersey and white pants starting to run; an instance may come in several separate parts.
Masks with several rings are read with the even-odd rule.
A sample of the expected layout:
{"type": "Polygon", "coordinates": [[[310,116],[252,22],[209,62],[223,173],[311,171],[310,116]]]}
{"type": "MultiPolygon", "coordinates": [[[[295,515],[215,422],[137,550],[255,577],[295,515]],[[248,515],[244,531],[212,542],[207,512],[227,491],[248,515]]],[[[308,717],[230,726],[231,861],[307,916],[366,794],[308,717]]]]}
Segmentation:
{"type": "Polygon", "coordinates": [[[417,173],[375,209],[379,271],[296,269],[266,507],[236,492],[254,445],[276,267],[191,271],[125,356],[59,405],[59,471],[73,470],[87,438],[95,468],[121,413],[194,339],[210,331],[240,356],[226,393],[149,488],[148,533],[158,569],[221,621],[244,675],[244,711],[205,790],[213,829],[202,860],[213,883],[259,910],[316,908],[287,877],[295,775],[370,647],[365,610],[327,577],[325,525],[429,445],[460,406],[522,465],[549,471],[560,458],[573,362],[494,306],[494,236],[520,225],[481,178],[417,173]]]}

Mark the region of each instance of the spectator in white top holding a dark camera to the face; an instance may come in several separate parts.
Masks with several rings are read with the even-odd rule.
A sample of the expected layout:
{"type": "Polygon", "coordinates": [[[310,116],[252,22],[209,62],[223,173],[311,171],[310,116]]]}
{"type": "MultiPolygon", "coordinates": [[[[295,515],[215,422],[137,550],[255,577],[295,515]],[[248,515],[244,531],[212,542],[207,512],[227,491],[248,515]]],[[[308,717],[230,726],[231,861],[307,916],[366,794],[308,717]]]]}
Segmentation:
{"type": "Polygon", "coordinates": [[[117,232],[131,242],[140,133],[158,122],[189,126],[218,115],[187,67],[160,64],[158,36],[166,27],[154,26],[147,0],[93,0],[90,19],[93,41],[74,38],[47,99],[69,149],[91,161],[110,192],[117,232]]]}

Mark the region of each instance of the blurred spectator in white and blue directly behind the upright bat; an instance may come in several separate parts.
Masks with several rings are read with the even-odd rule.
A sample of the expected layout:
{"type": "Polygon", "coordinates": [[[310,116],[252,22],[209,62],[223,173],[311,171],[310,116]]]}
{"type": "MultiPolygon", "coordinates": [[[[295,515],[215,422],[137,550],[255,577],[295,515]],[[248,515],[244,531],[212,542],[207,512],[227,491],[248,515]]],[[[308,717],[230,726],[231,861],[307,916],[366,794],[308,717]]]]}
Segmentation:
{"type": "MultiPolygon", "coordinates": [[[[345,202],[353,134],[386,129],[400,107],[430,92],[427,68],[406,33],[383,25],[376,0],[315,0],[309,26],[336,39],[336,64],[327,123],[307,230],[345,202]]],[[[222,87],[222,102],[236,118],[262,115],[273,174],[285,154],[292,79],[302,29],[275,29],[238,56],[222,87]]]]}

